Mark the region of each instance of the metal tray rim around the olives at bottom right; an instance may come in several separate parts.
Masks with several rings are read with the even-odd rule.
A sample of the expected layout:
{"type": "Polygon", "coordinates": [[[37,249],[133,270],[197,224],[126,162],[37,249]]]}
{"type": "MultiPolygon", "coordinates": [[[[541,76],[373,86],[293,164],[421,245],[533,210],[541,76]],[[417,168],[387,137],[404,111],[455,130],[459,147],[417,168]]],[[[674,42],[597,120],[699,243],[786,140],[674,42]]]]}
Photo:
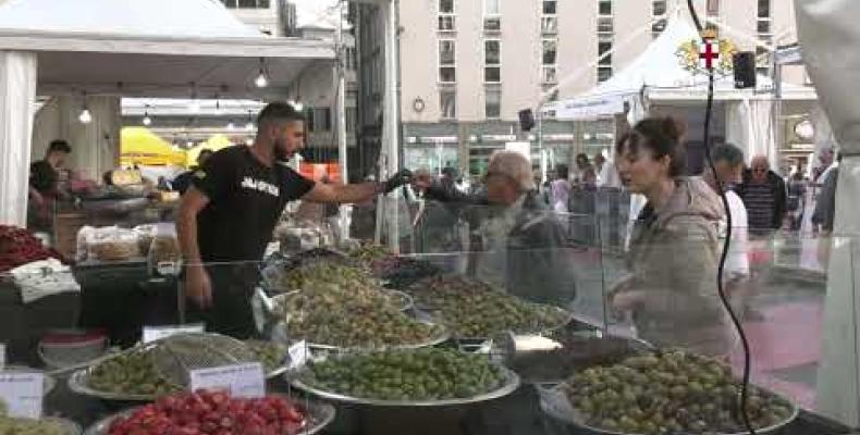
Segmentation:
{"type": "MultiPolygon", "coordinates": [[[[595,434],[601,435],[632,435],[627,434],[624,432],[615,432],[615,431],[607,431],[600,427],[590,426],[582,421],[579,420],[576,411],[574,410],[573,406],[570,406],[569,400],[567,399],[567,395],[563,390],[565,384],[558,384],[552,386],[550,388],[542,388],[540,386],[537,387],[538,395],[540,396],[540,408],[545,412],[548,415],[561,421],[573,425],[574,427],[582,428],[595,434]]],[[[797,417],[800,414],[800,410],[798,409],[797,405],[793,400],[786,399],[784,396],[773,393],[769,389],[759,387],[762,391],[767,395],[772,395],[778,397],[779,399],[784,400],[786,403],[791,406],[791,415],[789,415],[784,421],[773,424],[767,427],[762,427],[760,430],[755,430],[757,434],[765,435],[765,434],[773,434],[777,433],[779,430],[795,421],[797,417]]],[[[721,433],[713,433],[713,435],[747,435],[748,432],[740,432],[736,434],[721,434],[721,433]]]]}

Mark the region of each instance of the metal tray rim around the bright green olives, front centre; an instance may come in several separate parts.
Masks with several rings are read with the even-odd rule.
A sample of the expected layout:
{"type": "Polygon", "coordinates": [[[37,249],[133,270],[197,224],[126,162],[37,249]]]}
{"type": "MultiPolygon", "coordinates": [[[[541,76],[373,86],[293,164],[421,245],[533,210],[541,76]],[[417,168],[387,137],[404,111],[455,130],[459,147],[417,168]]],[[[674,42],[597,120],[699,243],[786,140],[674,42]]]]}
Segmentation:
{"type": "Polygon", "coordinates": [[[468,398],[455,398],[455,399],[443,399],[443,400],[381,400],[381,399],[368,399],[361,397],[352,397],[345,396],[339,393],[327,391],[324,389],[319,389],[311,385],[306,384],[302,381],[302,375],[307,373],[308,368],[303,368],[298,372],[293,373],[287,381],[295,387],[306,393],[312,394],[317,397],[340,401],[344,403],[353,403],[353,405],[369,405],[374,407],[447,407],[447,406],[458,406],[458,405],[467,405],[467,403],[478,403],[488,400],[494,400],[502,397],[505,397],[519,388],[519,376],[516,373],[505,369],[502,365],[499,365],[503,373],[505,374],[505,383],[500,386],[499,388],[488,391],[478,396],[468,397],[468,398]]]}

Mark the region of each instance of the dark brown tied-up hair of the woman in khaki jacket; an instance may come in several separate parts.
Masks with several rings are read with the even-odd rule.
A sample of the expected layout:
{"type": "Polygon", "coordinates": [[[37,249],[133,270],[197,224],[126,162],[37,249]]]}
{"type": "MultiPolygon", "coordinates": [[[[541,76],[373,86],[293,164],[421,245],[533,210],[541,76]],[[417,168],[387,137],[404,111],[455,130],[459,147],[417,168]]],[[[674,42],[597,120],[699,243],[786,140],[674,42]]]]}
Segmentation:
{"type": "Polygon", "coordinates": [[[615,144],[615,153],[621,156],[625,148],[631,153],[639,152],[640,147],[651,150],[654,159],[669,158],[668,176],[684,175],[687,158],[680,142],[685,128],[671,116],[648,117],[625,133],[615,144]]]}

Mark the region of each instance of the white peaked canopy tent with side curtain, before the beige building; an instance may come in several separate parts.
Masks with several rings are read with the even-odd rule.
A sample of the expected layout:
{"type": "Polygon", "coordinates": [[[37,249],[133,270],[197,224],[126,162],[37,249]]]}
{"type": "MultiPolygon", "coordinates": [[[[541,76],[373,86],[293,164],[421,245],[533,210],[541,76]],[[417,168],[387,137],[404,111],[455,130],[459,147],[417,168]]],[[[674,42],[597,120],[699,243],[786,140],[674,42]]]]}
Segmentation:
{"type": "MultiPolygon", "coordinates": [[[[663,33],[630,64],[601,83],[591,91],[566,101],[541,108],[544,117],[593,120],[629,110],[635,123],[654,105],[689,105],[708,96],[708,76],[686,70],[677,52],[683,44],[699,40],[689,21],[673,17],[663,33]]],[[[759,75],[753,89],[735,89],[733,76],[718,76],[714,98],[725,101],[727,139],[746,150],[748,158],[765,154],[777,167],[775,132],[770,122],[773,108],[773,80],[759,75]]],[[[814,89],[783,84],[782,99],[815,100],[814,89]]]]}

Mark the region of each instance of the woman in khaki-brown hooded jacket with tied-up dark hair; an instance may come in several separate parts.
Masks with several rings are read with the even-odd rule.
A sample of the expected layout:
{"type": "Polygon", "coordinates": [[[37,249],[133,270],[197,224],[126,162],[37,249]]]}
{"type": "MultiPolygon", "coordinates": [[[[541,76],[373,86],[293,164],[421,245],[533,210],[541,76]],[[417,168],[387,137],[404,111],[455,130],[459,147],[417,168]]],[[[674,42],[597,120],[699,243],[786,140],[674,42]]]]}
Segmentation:
{"type": "Polygon", "coordinates": [[[674,120],[647,119],[616,145],[622,181],[648,204],[634,228],[630,275],[611,302],[655,346],[725,356],[732,332],[716,286],[723,208],[701,178],[681,176],[680,136],[674,120]]]}

